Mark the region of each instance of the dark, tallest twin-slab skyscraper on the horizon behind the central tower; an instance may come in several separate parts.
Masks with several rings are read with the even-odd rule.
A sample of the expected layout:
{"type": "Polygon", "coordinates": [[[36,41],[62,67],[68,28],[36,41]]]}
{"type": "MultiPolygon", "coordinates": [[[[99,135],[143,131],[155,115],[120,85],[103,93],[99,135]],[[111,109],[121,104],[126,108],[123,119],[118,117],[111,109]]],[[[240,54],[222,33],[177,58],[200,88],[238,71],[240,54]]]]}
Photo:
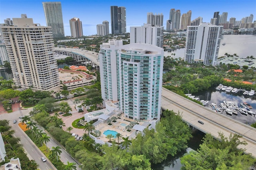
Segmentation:
{"type": "Polygon", "coordinates": [[[126,8],[110,6],[112,34],[126,33],[126,8]]]}

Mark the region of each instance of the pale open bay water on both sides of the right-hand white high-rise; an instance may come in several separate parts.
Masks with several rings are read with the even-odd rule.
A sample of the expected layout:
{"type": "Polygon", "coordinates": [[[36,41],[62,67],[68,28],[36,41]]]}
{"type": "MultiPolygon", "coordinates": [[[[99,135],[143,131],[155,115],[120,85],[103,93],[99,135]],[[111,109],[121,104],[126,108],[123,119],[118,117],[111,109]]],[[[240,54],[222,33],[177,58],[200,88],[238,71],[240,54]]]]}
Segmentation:
{"type": "MultiPolygon", "coordinates": [[[[247,56],[256,57],[256,36],[252,35],[224,35],[220,44],[226,43],[226,45],[220,45],[218,57],[224,56],[225,53],[236,53],[241,58],[247,56]]],[[[173,51],[164,51],[164,56],[172,56],[174,58],[184,58],[185,48],[175,49],[173,51]],[[175,53],[175,55],[171,55],[175,53]]]]}

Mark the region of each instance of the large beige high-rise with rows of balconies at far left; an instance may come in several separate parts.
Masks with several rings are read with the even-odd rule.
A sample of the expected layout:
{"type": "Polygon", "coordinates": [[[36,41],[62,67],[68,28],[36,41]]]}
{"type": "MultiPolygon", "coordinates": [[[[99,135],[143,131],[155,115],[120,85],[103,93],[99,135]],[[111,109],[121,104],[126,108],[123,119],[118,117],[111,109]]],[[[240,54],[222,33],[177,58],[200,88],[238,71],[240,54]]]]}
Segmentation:
{"type": "Polygon", "coordinates": [[[1,26],[17,86],[57,91],[60,86],[51,27],[34,24],[32,18],[12,18],[14,26],[1,26]]]}

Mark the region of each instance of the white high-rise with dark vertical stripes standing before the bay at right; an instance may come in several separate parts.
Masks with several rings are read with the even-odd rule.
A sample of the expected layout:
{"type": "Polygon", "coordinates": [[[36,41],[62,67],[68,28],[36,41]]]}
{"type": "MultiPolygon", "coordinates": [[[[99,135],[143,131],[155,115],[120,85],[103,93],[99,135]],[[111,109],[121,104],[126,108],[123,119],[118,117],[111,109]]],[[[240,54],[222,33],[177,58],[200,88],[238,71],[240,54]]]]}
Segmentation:
{"type": "Polygon", "coordinates": [[[214,65],[218,58],[223,26],[202,23],[200,26],[188,26],[186,37],[185,61],[202,62],[214,65]]]}

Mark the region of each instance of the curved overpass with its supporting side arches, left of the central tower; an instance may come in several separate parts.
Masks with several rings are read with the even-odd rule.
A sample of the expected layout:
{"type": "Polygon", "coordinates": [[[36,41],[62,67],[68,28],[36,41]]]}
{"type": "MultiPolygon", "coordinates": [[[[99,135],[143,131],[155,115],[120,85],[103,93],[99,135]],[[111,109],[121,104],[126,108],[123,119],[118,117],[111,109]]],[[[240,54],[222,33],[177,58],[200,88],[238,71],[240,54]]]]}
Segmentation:
{"type": "Polygon", "coordinates": [[[58,54],[68,55],[73,57],[78,61],[92,61],[92,64],[96,66],[100,66],[100,62],[98,60],[98,53],[95,51],[89,51],[86,49],[79,48],[64,48],[64,47],[54,47],[53,51],[56,51],[58,54]]]}

